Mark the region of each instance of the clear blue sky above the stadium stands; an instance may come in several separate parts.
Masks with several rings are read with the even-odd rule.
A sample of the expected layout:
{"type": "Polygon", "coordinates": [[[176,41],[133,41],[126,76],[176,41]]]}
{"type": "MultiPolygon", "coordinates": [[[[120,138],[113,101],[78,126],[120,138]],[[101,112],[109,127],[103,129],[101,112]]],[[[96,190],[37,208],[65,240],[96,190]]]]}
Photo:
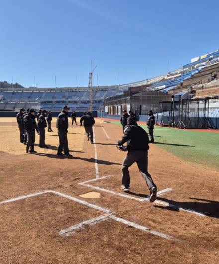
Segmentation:
{"type": "Polygon", "coordinates": [[[124,84],[219,48],[218,0],[0,0],[0,81],[124,84]],[[97,76],[98,75],[98,76],[97,76]]]}

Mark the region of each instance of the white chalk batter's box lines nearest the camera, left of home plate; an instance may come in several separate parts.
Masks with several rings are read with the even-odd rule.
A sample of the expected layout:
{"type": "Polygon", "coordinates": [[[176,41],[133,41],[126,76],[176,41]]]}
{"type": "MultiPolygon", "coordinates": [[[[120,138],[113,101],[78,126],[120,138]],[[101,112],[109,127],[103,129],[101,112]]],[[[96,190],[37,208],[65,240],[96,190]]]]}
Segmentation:
{"type": "Polygon", "coordinates": [[[142,226],[142,225],[138,225],[138,224],[136,224],[134,222],[131,222],[131,221],[128,221],[126,219],[116,217],[115,213],[113,213],[111,210],[109,210],[107,208],[103,208],[103,207],[88,203],[88,202],[86,202],[84,200],[78,199],[76,197],[73,197],[73,196],[70,196],[70,195],[67,195],[67,194],[63,194],[63,193],[60,193],[60,192],[56,192],[56,191],[53,191],[53,190],[44,190],[44,191],[41,191],[41,192],[31,193],[31,194],[28,194],[28,195],[18,196],[16,198],[11,198],[11,199],[2,201],[2,202],[0,202],[0,205],[12,203],[12,202],[23,200],[23,199],[30,198],[30,197],[39,196],[39,195],[46,194],[46,193],[52,193],[52,194],[61,196],[63,198],[67,198],[67,199],[69,199],[71,201],[77,202],[77,203],[82,204],[82,205],[86,205],[88,207],[94,208],[96,210],[99,210],[99,211],[105,213],[104,215],[101,215],[101,216],[99,216],[97,218],[88,219],[88,220],[83,221],[83,222],[81,222],[79,224],[71,226],[71,227],[69,227],[69,228],[67,228],[65,230],[64,229],[60,230],[59,233],[58,233],[59,235],[64,235],[64,234],[66,235],[67,233],[69,233],[69,232],[71,232],[73,230],[83,228],[83,225],[86,225],[86,224],[88,224],[88,225],[89,224],[97,224],[100,221],[103,221],[103,220],[106,220],[106,219],[110,218],[110,219],[113,219],[113,220],[115,220],[117,222],[123,223],[123,224],[125,224],[127,226],[131,226],[131,227],[136,228],[138,230],[142,230],[142,231],[144,231],[146,233],[150,233],[152,235],[155,235],[157,237],[161,237],[161,238],[164,238],[164,239],[172,240],[172,241],[177,242],[177,243],[185,243],[185,241],[177,239],[177,238],[175,238],[173,236],[158,232],[156,230],[152,230],[152,229],[150,229],[148,227],[145,227],[145,226],[142,226]]]}

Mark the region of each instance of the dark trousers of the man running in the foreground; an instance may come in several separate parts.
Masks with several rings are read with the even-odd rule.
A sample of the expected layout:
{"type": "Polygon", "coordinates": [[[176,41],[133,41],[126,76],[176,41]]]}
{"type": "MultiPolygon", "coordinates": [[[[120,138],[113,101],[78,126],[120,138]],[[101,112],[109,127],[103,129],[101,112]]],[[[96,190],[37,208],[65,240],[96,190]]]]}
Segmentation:
{"type": "Polygon", "coordinates": [[[122,184],[124,185],[130,184],[130,174],[128,168],[135,162],[137,163],[138,169],[141,175],[143,176],[148,188],[151,189],[152,187],[156,187],[156,185],[154,184],[151,178],[151,175],[147,170],[147,165],[148,165],[147,151],[140,151],[140,150],[128,151],[128,154],[122,163],[122,184]]]}

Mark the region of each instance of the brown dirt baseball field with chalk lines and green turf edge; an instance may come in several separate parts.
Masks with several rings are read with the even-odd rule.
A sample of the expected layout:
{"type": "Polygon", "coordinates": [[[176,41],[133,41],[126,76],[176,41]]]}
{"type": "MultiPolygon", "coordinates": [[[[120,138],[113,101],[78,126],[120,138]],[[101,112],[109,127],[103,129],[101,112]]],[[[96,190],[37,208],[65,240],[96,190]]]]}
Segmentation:
{"type": "Polygon", "coordinates": [[[16,119],[0,118],[0,264],[219,263],[217,131],[155,127],[149,203],[136,165],[131,190],[120,190],[118,122],[96,119],[95,144],[70,125],[71,158],[56,155],[52,128],[49,149],[36,135],[37,153],[26,154],[16,119]]]}

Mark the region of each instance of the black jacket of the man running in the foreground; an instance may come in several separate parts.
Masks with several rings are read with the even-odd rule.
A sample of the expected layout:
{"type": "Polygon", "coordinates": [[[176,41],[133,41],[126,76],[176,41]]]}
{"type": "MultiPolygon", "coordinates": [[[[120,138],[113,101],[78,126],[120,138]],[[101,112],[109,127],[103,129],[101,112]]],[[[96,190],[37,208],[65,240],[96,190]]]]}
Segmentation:
{"type": "Polygon", "coordinates": [[[124,129],[124,136],[118,141],[118,145],[127,142],[128,151],[149,149],[149,138],[147,132],[140,126],[127,125],[124,129]]]}

